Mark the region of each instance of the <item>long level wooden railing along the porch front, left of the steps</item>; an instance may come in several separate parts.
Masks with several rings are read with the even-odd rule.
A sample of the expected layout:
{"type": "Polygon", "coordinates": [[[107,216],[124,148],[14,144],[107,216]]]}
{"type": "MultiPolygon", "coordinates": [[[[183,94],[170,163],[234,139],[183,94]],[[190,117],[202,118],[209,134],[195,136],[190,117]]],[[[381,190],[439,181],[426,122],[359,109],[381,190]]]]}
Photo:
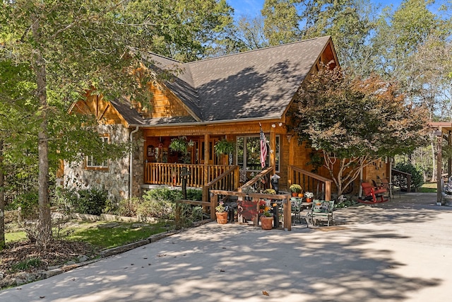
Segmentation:
{"type": "Polygon", "coordinates": [[[196,165],[191,163],[146,163],[144,183],[151,185],[182,185],[180,175],[182,168],[186,168],[190,177],[188,187],[203,187],[222,173],[232,168],[232,165],[196,165]]]}

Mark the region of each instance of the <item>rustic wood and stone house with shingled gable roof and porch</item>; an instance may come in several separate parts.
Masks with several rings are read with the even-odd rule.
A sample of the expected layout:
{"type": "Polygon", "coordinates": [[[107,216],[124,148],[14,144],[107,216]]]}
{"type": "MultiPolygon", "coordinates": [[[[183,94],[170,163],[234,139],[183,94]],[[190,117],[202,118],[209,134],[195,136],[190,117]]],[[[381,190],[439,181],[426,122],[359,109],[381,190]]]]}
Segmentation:
{"type": "MultiPolygon", "coordinates": [[[[326,170],[312,173],[312,150],[300,146],[287,125],[297,91],[321,63],[338,65],[331,37],[318,37],[224,57],[181,63],[150,54],[150,68],[177,66],[182,71],[172,81],[150,83],[150,109],[120,100],[88,95],[71,110],[94,114],[97,129],[107,141],[130,141],[133,149],[119,161],[65,163],[66,187],[100,186],[112,199],[139,196],[155,185],[180,185],[186,168],[191,187],[237,190],[261,173],[280,176],[280,190],[300,183],[304,190],[331,193],[326,170]],[[266,136],[269,152],[261,168],[259,134],[266,136]],[[174,139],[186,140],[186,153],[169,148],[174,139]],[[235,151],[218,156],[218,141],[234,142],[235,151]],[[264,172],[262,172],[264,170],[264,172]]],[[[289,128],[290,129],[290,128],[289,128]]],[[[386,163],[369,166],[364,177],[385,176],[386,163]]],[[[386,174],[388,175],[388,174],[386,174]]],[[[254,181],[252,180],[254,178],[254,181]]]]}

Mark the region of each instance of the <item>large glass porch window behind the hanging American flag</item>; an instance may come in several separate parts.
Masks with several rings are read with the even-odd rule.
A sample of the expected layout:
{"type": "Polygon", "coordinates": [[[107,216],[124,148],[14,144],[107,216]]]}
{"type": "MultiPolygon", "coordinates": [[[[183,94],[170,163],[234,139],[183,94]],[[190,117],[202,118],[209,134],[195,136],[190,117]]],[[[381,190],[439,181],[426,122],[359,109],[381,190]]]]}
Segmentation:
{"type": "MultiPolygon", "coordinates": [[[[268,137],[266,137],[268,141],[268,137]]],[[[266,166],[270,161],[270,146],[267,146],[266,166]]],[[[275,164],[280,170],[280,137],[276,137],[275,164]]],[[[262,170],[261,168],[261,141],[255,137],[237,137],[237,165],[244,170],[262,170]]]]}

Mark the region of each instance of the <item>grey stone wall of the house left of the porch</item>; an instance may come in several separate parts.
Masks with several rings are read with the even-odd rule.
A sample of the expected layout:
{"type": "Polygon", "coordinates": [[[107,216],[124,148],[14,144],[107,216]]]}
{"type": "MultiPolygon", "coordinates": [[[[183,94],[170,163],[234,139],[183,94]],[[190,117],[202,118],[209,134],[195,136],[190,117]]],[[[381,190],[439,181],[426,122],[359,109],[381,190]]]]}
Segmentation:
{"type": "MultiPolygon", "coordinates": [[[[112,143],[128,143],[133,129],[121,124],[100,125],[100,134],[109,134],[112,143]]],[[[142,132],[133,134],[133,196],[141,194],[143,182],[143,137],[142,132]]],[[[106,190],[113,202],[129,198],[129,153],[124,158],[109,160],[108,170],[87,170],[85,163],[64,163],[64,187],[76,190],[97,188],[106,190]]]]}

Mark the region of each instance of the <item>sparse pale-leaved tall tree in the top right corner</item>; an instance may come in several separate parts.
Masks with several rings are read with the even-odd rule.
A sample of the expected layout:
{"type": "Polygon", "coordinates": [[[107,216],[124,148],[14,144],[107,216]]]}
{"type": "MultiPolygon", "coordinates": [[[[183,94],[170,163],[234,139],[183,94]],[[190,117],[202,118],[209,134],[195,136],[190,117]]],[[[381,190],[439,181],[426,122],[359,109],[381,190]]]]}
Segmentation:
{"type": "MultiPolygon", "coordinates": [[[[396,11],[386,8],[379,18],[374,47],[374,69],[385,79],[398,81],[410,102],[424,105],[431,120],[450,117],[452,19],[444,11],[437,12],[434,1],[405,0],[396,11]]],[[[433,174],[436,178],[436,142],[431,136],[433,174]]]]}

